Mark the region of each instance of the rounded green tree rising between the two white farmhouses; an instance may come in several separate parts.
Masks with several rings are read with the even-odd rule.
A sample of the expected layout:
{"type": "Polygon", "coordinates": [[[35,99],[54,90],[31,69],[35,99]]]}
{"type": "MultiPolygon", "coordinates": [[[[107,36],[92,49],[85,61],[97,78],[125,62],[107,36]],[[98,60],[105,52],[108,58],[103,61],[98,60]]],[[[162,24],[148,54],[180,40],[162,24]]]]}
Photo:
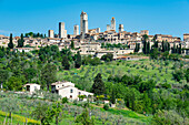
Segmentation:
{"type": "Polygon", "coordinates": [[[41,70],[41,80],[47,84],[49,91],[49,85],[56,82],[57,67],[54,64],[46,64],[41,70]]]}

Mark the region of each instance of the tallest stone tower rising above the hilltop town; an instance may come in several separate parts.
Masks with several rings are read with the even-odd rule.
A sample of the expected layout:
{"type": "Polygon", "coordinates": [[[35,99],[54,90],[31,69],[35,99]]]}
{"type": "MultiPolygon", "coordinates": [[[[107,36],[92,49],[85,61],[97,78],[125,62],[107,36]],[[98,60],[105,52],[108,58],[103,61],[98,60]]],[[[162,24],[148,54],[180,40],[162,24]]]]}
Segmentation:
{"type": "Polygon", "coordinates": [[[80,14],[80,33],[88,33],[88,14],[83,11],[80,14]]]}

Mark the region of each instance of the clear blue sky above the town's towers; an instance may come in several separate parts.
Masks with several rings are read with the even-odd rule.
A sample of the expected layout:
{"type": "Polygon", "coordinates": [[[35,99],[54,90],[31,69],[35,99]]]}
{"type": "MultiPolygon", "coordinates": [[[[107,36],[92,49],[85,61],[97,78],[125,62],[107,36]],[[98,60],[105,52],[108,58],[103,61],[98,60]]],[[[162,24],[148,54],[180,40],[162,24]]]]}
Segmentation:
{"type": "Polygon", "coordinates": [[[26,32],[58,33],[58,23],[73,34],[80,13],[89,18],[89,29],[106,30],[112,17],[128,32],[149,30],[150,34],[182,38],[189,33],[189,0],[0,0],[0,34],[26,32]]]}

